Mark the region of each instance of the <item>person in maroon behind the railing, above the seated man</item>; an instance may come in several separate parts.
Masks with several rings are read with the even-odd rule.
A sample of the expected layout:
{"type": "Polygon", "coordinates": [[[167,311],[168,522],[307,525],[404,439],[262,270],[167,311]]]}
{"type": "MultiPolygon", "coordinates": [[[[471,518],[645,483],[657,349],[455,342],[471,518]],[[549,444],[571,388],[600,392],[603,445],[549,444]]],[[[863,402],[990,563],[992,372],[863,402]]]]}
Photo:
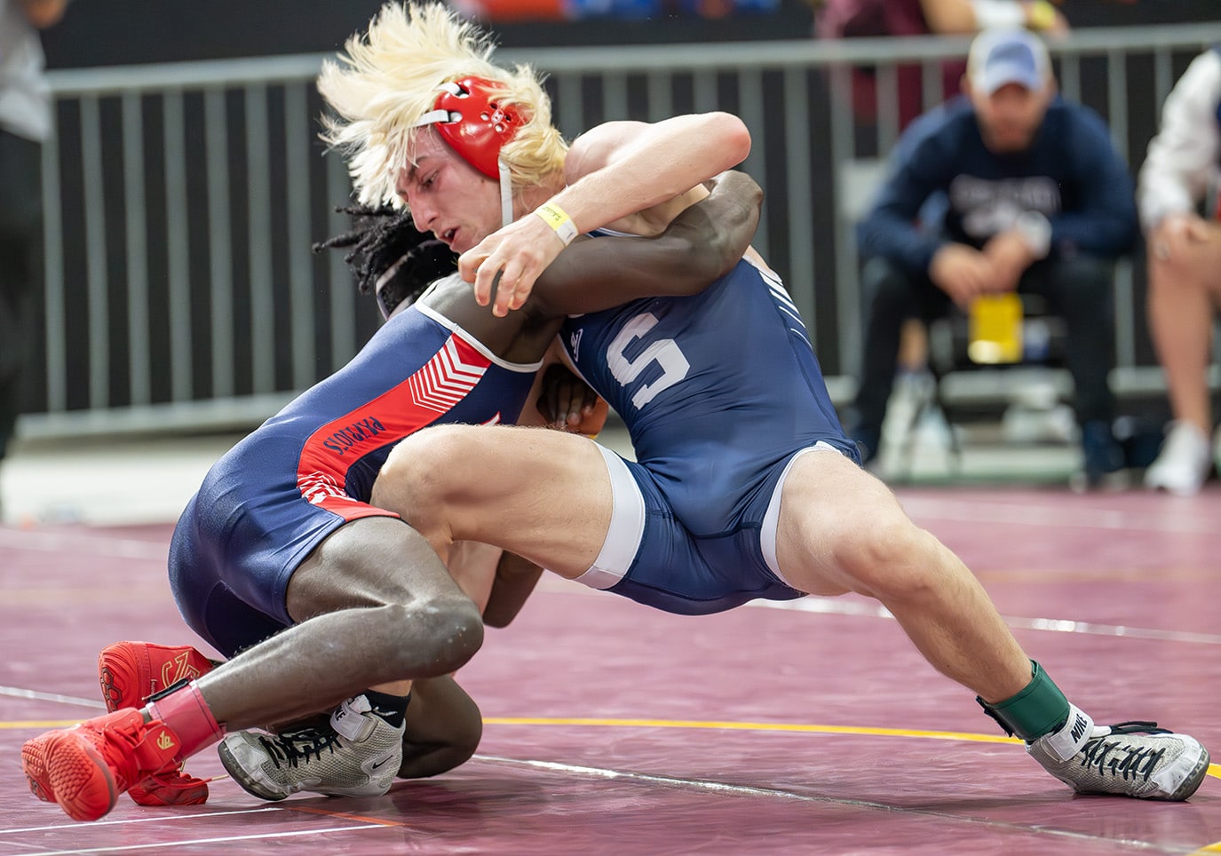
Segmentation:
{"type": "MultiPolygon", "coordinates": [[[[824,39],[967,35],[999,27],[1066,33],[1068,22],[1048,0],[827,0],[816,24],[818,35],[824,39]]],[[[963,71],[958,61],[941,65],[943,96],[949,98],[957,92],[963,71]]],[[[900,129],[924,109],[923,79],[918,63],[897,67],[900,129]]],[[[873,68],[852,70],[852,109],[858,118],[875,121],[878,93],[873,68]]]]}

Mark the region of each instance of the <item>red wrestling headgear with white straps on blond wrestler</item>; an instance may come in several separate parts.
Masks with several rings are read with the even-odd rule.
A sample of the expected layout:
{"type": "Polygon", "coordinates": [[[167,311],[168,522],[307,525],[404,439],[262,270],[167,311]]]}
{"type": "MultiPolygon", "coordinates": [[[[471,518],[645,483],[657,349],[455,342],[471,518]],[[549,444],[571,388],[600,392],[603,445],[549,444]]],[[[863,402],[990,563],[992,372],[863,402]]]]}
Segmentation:
{"type": "Polygon", "coordinates": [[[501,221],[508,226],[513,222],[513,188],[501,148],[513,139],[525,120],[519,110],[502,107],[493,100],[491,93],[497,85],[484,77],[442,83],[433,109],[415,127],[436,125],[437,133],[464,161],[488,178],[499,180],[501,221]]]}

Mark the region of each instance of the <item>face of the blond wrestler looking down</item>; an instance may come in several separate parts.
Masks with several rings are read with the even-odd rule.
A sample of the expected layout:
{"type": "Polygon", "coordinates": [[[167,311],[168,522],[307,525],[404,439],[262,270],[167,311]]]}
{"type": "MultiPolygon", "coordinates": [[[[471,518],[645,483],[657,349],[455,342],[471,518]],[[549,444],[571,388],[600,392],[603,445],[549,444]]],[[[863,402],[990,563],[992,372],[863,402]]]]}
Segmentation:
{"type": "Polygon", "coordinates": [[[441,137],[425,129],[399,170],[394,189],[415,227],[465,253],[501,227],[501,186],[468,164],[441,137]]]}

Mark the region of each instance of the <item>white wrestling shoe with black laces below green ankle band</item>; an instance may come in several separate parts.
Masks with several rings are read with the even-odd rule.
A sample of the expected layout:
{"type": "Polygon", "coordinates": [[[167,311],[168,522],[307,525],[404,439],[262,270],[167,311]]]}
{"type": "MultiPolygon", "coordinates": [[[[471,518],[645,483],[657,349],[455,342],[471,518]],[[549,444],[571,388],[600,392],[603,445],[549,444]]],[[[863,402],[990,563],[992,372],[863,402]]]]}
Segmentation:
{"type": "Polygon", "coordinates": [[[1063,728],[1027,744],[1026,751],[1078,794],[1179,801],[1209,772],[1209,751],[1195,738],[1151,722],[1094,725],[1076,707],[1063,728]]]}

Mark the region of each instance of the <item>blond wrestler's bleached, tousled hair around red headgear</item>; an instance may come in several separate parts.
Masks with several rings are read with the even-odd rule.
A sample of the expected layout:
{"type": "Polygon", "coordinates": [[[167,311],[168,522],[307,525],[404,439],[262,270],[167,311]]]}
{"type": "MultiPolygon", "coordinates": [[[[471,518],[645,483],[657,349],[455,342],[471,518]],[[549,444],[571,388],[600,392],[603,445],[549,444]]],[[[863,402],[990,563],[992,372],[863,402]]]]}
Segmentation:
{"type": "Polygon", "coordinates": [[[495,49],[491,35],[446,6],[387,2],[368,33],[348,39],[346,54],[322,63],[317,89],[336,114],[324,117],[322,139],[348,159],[361,204],[402,206],[394,180],[424,129],[415,123],[442,83],[463,77],[497,84],[496,98],[525,120],[501,149],[514,188],[563,170],[568,144],[551,125],[541,79],[530,66],[495,65],[495,49]]]}

